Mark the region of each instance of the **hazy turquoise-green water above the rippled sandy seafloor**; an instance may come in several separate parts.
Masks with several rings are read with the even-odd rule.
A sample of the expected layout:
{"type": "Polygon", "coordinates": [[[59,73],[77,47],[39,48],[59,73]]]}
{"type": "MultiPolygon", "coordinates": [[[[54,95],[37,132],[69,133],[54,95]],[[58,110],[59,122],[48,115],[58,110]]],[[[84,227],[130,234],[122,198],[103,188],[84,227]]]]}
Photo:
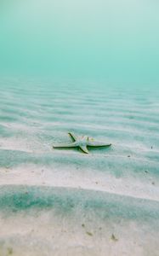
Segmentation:
{"type": "Polygon", "coordinates": [[[2,0],[0,70],[158,84],[158,23],[155,0],[2,0]]]}

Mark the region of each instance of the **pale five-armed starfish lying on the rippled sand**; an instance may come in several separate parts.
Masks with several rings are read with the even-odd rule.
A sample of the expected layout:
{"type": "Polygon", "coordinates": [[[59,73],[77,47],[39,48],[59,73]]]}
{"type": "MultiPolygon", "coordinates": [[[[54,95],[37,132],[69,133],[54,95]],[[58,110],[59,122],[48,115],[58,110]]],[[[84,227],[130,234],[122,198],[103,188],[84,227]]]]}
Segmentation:
{"type": "Polygon", "coordinates": [[[94,139],[88,136],[78,137],[72,132],[69,132],[68,134],[73,139],[73,143],[58,144],[58,145],[54,145],[53,148],[80,148],[83,153],[88,154],[89,152],[87,147],[110,147],[111,146],[111,144],[94,142],[94,139]]]}

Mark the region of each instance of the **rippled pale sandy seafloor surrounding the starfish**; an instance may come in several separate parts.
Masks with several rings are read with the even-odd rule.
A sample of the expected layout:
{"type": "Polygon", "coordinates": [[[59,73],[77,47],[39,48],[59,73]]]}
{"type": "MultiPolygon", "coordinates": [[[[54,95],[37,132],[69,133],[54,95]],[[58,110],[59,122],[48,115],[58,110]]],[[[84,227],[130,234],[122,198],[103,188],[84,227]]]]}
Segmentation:
{"type": "Polygon", "coordinates": [[[159,255],[159,91],[0,89],[0,256],[159,255]],[[53,149],[68,131],[112,147],[53,149]]]}

